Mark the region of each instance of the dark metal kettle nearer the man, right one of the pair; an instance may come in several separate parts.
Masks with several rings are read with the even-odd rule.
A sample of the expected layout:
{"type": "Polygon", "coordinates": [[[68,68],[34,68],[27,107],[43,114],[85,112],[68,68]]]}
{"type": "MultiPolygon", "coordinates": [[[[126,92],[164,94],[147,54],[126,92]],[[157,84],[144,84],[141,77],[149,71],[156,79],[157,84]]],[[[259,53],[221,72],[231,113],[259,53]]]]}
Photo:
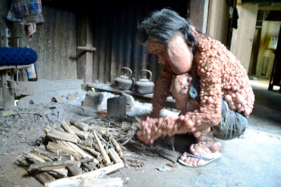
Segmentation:
{"type": "Polygon", "coordinates": [[[149,70],[140,70],[139,80],[135,83],[135,90],[138,93],[153,93],[154,91],[154,82],[151,81],[152,73],[149,70]],[[149,74],[149,79],[143,76],[141,78],[142,72],[147,72],[149,74]]]}

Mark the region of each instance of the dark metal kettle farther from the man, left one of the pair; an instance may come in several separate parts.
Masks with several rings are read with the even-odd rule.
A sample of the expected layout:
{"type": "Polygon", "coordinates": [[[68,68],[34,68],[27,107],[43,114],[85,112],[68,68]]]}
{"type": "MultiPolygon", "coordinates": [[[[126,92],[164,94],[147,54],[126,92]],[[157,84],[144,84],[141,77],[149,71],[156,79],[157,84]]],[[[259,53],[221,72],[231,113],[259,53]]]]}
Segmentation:
{"type": "Polygon", "coordinates": [[[134,78],[132,78],[132,75],[132,70],[128,67],[122,67],[120,69],[120,75],[117,78],[116,75],[113,73],[115,87],[121,90],[131,90],[134,84],[134,78]],[[130,73],[129,76],[126,74],[122,74],[122,70],[123,73],[125,70],[127,70],[130,73]]]}

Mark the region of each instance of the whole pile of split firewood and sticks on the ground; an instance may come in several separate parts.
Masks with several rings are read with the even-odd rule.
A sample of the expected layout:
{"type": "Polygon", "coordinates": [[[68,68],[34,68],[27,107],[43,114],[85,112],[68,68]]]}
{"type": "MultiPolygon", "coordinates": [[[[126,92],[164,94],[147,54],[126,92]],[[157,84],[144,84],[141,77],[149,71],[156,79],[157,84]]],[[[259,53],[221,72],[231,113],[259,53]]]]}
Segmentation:
{"type": "Polygon", "coordinates": [[[60,125],[44,126],[38,146],[23,151],[16,163],[45,187],[123,186],[107,174],[124,167],[124,145],[132,142],[137,127],[93,116],[60,125]],[[86,121],[95,118],[95,122],[86,121]]]}

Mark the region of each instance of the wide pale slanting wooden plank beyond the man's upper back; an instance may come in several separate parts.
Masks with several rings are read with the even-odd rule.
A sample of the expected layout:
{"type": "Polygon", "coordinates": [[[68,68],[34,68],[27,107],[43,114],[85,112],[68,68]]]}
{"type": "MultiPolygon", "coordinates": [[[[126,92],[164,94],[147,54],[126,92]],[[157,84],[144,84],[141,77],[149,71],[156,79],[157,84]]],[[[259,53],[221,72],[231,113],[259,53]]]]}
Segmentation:
{"type": "Polygon", "coordinates": [[[248,73],[253,38],[258,14],[258,5],[237,5],[238,27],[233,31],[230,51],[240,60],[248,73]]]}

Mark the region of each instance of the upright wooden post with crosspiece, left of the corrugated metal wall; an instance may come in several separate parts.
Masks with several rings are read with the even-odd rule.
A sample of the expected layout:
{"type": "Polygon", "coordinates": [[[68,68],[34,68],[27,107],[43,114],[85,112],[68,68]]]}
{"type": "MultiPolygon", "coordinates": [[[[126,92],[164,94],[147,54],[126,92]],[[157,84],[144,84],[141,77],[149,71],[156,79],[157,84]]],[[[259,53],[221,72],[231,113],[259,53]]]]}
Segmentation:
{"type": "MultiPolygon", "coordinates": [[[[93,47],[93,27],[89,14],[77,18],[77,46],[93,47]]],[[[93,78],[93,51],[77,50],[77,79],[92,82],[93,78]]]]}

